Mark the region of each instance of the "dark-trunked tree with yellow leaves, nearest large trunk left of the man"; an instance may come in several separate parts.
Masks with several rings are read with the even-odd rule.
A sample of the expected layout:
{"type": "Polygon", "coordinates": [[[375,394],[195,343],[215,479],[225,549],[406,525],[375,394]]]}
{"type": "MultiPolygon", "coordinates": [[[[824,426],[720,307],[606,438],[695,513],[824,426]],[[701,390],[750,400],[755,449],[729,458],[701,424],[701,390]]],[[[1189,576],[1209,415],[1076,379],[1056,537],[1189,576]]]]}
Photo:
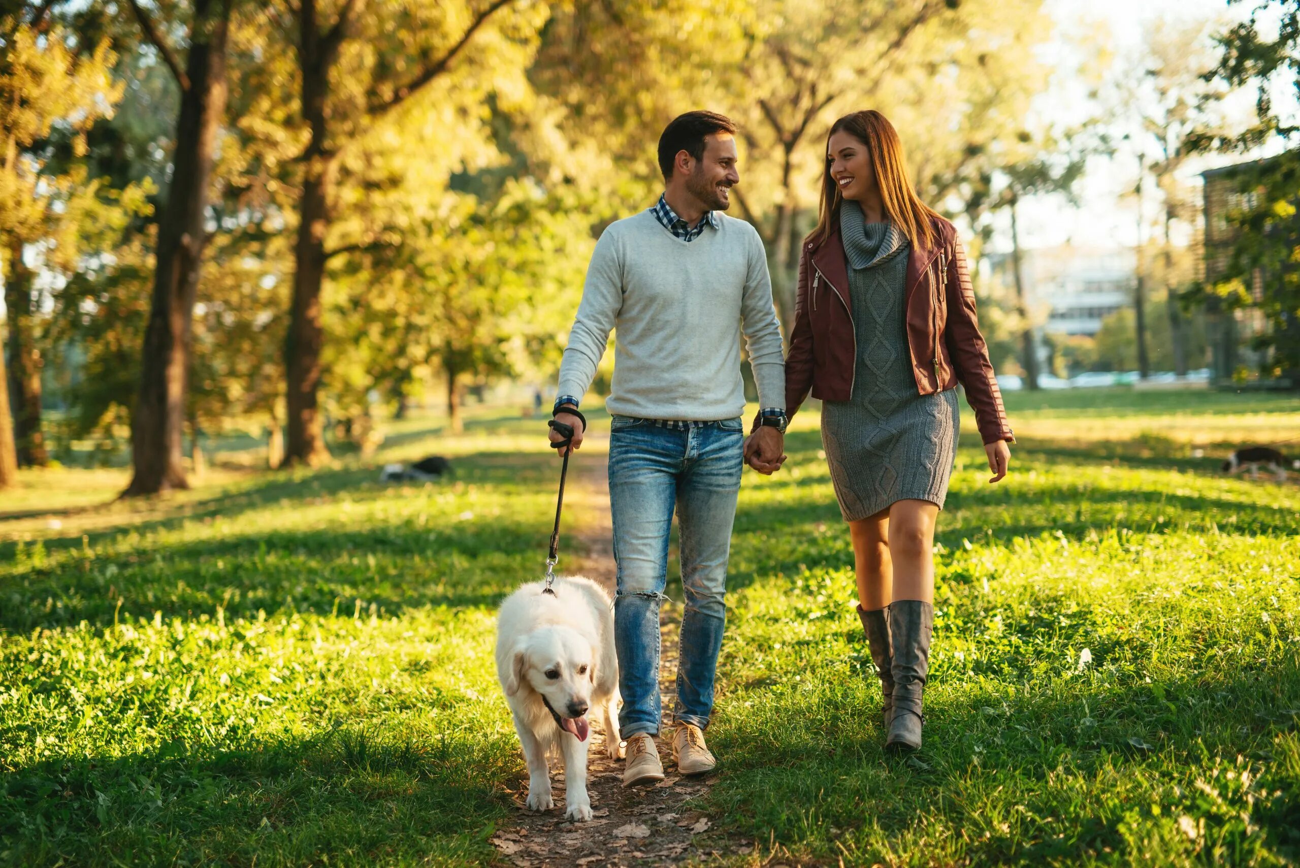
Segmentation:
{"type": "MultiPolygon", "coordinates": [[[[306,147],[299,159],[298,239],[289,333],[285,340],[289,438],[286,461],[316,465],[329,452],[322,437],[317,390],[325,342],[321,288],[326,266],[370,242],[330,244],[339,186],[348,160],[360,159],[384,127],[415,97],[448,99],[445,83],[460,74],[474,36],[500,17],[511,0],[477,3],[381,3],[342,0],[333,13],[317,0],[287,3],[276,14],[296,49],[299,113],[306,147]],[[442,88],[441,92],[437,92],[442,88]],[[437,92],[437,96],[432,96],[437,92]]],[[[507,18],[491,44],[530,49],[538,12],[507,18]]],[[[523,69],[524,64],[512,64],[523,69]]],[[[491,68],[491,64],[488,65],[491,68]]],[[[472,75],[482,77],[473,70],[472,75]]],[[[478,90],[478,88],[473,88],[478,90]]],[[[391,147],[391,142],[389,143],[391,147]]]]}

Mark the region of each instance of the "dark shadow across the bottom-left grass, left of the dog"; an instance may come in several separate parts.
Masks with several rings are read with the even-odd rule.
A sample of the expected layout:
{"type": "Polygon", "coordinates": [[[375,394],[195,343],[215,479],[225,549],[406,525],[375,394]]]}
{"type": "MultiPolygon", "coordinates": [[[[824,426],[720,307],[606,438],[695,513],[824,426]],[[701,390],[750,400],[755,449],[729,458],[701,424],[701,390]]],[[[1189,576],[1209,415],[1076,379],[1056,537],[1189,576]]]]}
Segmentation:
{"type": "Polygon", "coordinates": [[[403,725],[213,751],[61,756],[0,774],[9,864],[480,863],[514,739],[403,725]]]}

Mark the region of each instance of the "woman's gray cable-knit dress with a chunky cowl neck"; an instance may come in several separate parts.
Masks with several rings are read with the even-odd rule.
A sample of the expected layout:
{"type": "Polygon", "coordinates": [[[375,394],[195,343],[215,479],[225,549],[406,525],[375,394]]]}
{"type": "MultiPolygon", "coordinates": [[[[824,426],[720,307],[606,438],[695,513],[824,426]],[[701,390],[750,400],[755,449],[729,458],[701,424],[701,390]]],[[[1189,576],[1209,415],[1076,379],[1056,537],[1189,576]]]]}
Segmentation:
{"type": "Polygon", "coordinates": [[[845,521],[896,500],[942,508],[957,453],[957,390],[918,395],[904,295],[907,238],[867,223],[855,201],[840,209],[858,357],[846,402],[822,405],[822,444],[845,521]]]}

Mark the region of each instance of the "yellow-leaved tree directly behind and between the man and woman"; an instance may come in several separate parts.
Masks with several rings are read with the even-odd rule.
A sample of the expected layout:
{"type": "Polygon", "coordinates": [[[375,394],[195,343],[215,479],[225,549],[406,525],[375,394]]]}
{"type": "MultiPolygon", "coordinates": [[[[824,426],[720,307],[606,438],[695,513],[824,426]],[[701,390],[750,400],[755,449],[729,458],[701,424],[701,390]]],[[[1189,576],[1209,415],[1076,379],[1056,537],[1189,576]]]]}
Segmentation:
{"type": "Polygon", "coordinates": [[[1046,83],[1035,60],[1049,32],[1041,5],[760,0],[742,18],[745,52],[722,83],[750,160],[737,201],[767,244],[784,322],[793,317],[792,264],[807,229],[800,214],[816,205],[833,118],[883,112],[904,138],[922,196],[952,205],[979,155],[1019,131],[1046,83]]]}

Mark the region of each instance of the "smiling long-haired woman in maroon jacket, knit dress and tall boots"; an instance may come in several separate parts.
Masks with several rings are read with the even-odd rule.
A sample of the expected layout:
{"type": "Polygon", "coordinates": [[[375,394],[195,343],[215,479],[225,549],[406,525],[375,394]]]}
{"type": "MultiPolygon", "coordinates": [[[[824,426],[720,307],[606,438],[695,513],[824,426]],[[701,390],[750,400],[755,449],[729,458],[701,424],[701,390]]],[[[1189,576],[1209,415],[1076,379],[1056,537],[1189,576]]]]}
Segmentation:
{"type": "Polygon", "coordinates": [[[800,259],[786,416],[810,389],[823,402],[822,442],[893,750],[920,747],[935,518],[957,451],[958,382],[997,482],[1014,438],[957,233],[916,198],[889,121],[848,114],[827,138],[820,214],[800,259]]]}

